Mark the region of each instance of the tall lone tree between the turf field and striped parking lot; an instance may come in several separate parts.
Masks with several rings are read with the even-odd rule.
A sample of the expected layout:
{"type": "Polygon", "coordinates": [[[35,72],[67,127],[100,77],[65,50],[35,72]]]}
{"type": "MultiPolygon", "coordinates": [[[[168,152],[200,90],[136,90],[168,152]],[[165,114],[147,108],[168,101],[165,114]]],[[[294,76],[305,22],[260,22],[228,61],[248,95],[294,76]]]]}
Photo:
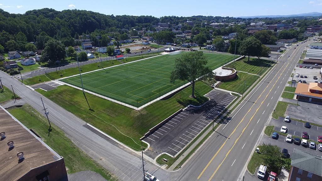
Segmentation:
{"type": "Polygon", "coordinates": [[[180,58],[175,60],[175,68],[171,72],[170,82],[187,80],[191,83],[192,94],[194,98],[194,83],[197,78],[201,79],[213,76],[213,72],[207,65],[207,58],[201,51],[184,53],[180,58]]]}

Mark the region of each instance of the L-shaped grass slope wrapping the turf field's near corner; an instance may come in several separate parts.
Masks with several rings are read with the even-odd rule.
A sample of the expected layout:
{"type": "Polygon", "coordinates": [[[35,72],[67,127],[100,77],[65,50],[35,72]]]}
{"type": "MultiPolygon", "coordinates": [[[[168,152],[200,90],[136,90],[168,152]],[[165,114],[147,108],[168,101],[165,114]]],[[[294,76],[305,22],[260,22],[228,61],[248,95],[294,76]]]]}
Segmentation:
{"type": "Polygon", "coordinates": [[[189,98],[191,94],[191,87],[189,86],[171,98],[156,101],[140,111],[86,93],[90,107],[94,110],[90,111],[81,90],[65,85],[47,92],[37,89],[38,92],[56,102],[64,109],[134,150],[141,150],[141,141],[139,138],[149,129],[180,108],[184,108],[189,104],[203,104],[208,100],[203,95],[210,90],[212,90],[210,86],[202,81],[198,81],[195,85],[195,91],[197,92],[196,99],[189,98]]]}

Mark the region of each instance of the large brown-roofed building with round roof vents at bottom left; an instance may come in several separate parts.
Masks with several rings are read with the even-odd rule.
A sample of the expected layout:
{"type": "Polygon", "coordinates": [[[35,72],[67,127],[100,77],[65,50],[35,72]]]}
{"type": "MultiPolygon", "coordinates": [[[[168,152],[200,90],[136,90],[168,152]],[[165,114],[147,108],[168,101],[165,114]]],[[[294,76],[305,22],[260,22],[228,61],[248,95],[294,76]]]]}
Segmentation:
{"type": "Polygon", "coordinates": [[[68,180],[63,157],[1,106],[0,125],[0,180],[68,180]]]}

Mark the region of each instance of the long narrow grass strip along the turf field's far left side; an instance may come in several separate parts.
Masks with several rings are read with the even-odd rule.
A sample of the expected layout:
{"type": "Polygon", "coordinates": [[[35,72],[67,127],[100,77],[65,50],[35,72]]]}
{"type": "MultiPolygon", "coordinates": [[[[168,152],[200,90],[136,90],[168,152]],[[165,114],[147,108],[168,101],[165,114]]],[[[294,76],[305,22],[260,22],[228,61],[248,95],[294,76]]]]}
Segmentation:
{"type": "MultiPolygon", "coordinates": [[[[140,59],[143,59],[143,58],[153,57],[155,55],[156,54],[128,57],[126,59],[123,59],[122,61],[125,62],[125,63],[133,62],[133,61],[140,60],[140,59]]],[[[121,64],[121,62],[119,62],[118,60],[113,60],[113,61],[109,60],[109,61],[104,61],[103,62],[103,67],[106,68],[106,67],[111,67],[111,66],[119,65],[119,64],[121,64]]],[[[91,63],[91,64],[87,64],[87,65],[81,65],[81,73],[88,72],[88,71],[94,71],[94,70],[98,70],[98,69],[101,69],[101,63],[100,62],[91,63]]],[[[63,77],[76,75],[78,73],[79,73],[78,67],[74,67],[74,68],[64,69],[62,71],[58,71],[58,73],[56,71],[54,71],[54,72],[48,73],[48,75],[52,79],[60,79],[60,78],[63,78],[63,77]],[[62,76],[60,76],[60,74],[62,74],[62,76]]],[[[49,79],[46,75],[38,75],[38,76],[34,76],[32,78],[24,80],[24,84],[33,85],[33,84],[46,82],[46,81],[50,81],[50,80],[51,79],[49,79]]]]}

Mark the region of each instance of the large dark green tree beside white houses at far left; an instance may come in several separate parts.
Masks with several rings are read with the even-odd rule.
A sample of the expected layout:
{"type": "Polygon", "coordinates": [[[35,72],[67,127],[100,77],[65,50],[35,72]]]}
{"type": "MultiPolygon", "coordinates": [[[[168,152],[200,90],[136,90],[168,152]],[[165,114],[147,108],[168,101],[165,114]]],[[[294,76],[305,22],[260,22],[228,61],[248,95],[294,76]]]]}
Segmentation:
{"type": "Polygon", "coordinates": [[[53,65],[66,57],[65,46],[58,40],[49,40],[45,44],[42,52],[41,61],[53,65]]]}

